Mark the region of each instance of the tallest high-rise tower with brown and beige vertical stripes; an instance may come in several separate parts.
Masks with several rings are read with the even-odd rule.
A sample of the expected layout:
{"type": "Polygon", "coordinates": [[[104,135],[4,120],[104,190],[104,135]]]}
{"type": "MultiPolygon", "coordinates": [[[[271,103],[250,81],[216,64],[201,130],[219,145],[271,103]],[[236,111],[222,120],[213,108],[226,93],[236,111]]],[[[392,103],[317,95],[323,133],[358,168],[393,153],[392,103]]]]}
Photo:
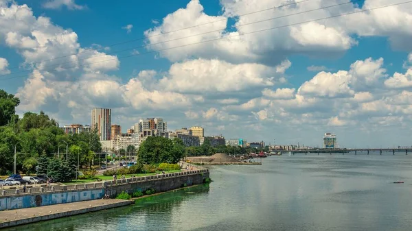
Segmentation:
{"type": "Polygon", "coordinates": [[[91,127],[93,130],[98,130],[100,141],[110,141],[111,109],[94,108],[91,110],[91,127]]]}

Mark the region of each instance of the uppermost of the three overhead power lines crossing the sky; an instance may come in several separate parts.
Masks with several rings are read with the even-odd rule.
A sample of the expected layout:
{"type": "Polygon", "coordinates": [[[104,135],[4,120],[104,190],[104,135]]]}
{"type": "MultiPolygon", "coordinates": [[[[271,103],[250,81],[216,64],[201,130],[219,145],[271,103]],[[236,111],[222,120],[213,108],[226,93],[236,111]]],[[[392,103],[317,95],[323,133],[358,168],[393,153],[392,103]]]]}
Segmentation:
{"type": "MultiPolygon", "coordinates": [[[[293,2],[293,3],[287,3],[287,4],[283,4],[283,5],[278,5],[278,6],[274,6],[274,7],[271,7],[271,8],[266,8],[266,9],[263,9],[263,10],[258,10],[258,11],[254,11],[254,12],[249,12],[249,13],[246,13],[246,14],[239,14],[239,15],[236,15],[236,16],[237,16],[237,17],[240,17],[240,16],[246,16],[246,15],[250,15],[250,14],[257,14],[257,13],[265,12],[265,11],[268,11],[268,10],[275,10],[275,9],[279,9],[279,8],[284,8],[284,7],[290,6],[290,5],[297,5],[298,3],[304,3],[304,2],[306,2],[306,1],[312,1],[312,0],[296,1],[296,2],[293,2]]],[[[359,0],[357,0],[357,1],[359,1],[359,0]]],[[[41,61],[38,61],[38,62],[33,62],[32,64],[39,64],[39,63],[41,63],[41,62],[47,62],[47,61],[57,60],[57,59],[60,59],[60,58],[67,58],[67,57],[69,57],[69,56],[78,56],[79,54],[88,53],[88,52],[91,52],[91,51],[100,51],[100,50],[102,50],[102,49],[105,49],[106,47],[115,47],[115,46],[118,46],[118,45],[124,45],[124,44],[126,44],[126,43],[130,43],[130,42],[136,42],[136,41],[139,41],[139,40],[145,40],[146,38],[153,38],[153,37],[157,37],[157,36],[161,36],[161,35],[165,35],[165,34],[171,34],[171,33],[174,33],[174,32],[180,32],[180,31],[185,30],[185,29],[191,29],[191,28],[194,28],[194,27],[202,26],[202,25],[208,25],[208,24],[212,24],[212,23],[218,23],[218,22],[220,22],[220,21],[226,21],[226,20],[229,19],[229,18],[231,18],[231,17],[228,17],[228,18],[225,18],[225,19],[218,19],[218,20],[216,20],[216,21],[211,21],[211,22],[207,22],[207,23],[201,23],[201,24],[197,24],[197,25],[192,25],[192,26],[190,26],[190,27],[183,27],[183,28],[181,28],[181,29],[175,29],[175,30],[172,30],[172,31],[169,31],[169,32],[163,32],[163,33],[160,33],[160,34],[154,34],[154,35],[147,36],[147,37],[145,36],[145,37],[141,37],[141,38],[135,38],[135,39],[132,39],[132,40],[126,40],[126,41],[123,41],[123,42],[117,42],[117,43],[114,43],[114,44],[112,44],[112,45],[102,46],[102,47],[100,47],[100,48],[98,48],[98,49],[93,49],[93,50],[89,50],[89,49],[88,49],[88,50],[81,51],[81,52],[78,52],[78,53],[71,53],[71,54],[66,55],[66,56],[59,56],[59,57],[51,58],[51,59],[48,59],[48,60],[41,60],[41,61]]],[[[13,67],[7,68],[7,70],[18,69],[18,68],[19,68],[19,66],[13,66],[13,67]]],[[[4,71],[4,70],[6,70],[6,69],[0,69],[0,71],[4,71]]]]}

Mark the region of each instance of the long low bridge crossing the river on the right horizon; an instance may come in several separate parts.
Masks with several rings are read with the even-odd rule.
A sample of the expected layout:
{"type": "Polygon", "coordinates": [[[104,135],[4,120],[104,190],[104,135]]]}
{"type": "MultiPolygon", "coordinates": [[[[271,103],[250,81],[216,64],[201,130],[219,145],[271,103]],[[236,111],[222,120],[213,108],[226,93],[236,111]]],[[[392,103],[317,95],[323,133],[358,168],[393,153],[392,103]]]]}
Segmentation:
{"type": "Polygon", "coordinates": [[[349,152],[354,152],[355,155],[358,153],[358,151],[361,152],[367,152],[367,154],[369,155],[369,152],[379,152],[380,155],[382,155],[382,152],[391,152],[393,155],[395,155],[396,152],[402,152],[405,155],[408,154],[408,152],[412,152],[412,147],[402,147],[402,148],[360,148],[360,149],[350,149],[350,148],[343,148],[343,149],[293,149],[293,150],[284,150],[284,149],[272,149],[271,152],[279,152],[280,154],[284,154],[284,153],[292,153],[292,154],[296,154],[296,153],[304,153],[304,154],[308,154],[308,153],[317,153],[319,155],[319,153],[328,153],[331,154],[332,153],[339,153],[339,154],[343,154],[345,155],[345,153],[349,153],[349,152]]]}

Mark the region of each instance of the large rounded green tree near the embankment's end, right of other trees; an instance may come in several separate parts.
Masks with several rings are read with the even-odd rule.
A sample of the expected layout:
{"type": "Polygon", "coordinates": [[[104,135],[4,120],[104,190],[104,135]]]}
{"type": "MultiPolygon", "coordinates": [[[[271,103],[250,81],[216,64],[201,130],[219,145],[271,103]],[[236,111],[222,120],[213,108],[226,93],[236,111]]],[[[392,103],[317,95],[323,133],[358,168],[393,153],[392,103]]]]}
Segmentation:
{"type": "Polygon", "coordinates": [[[172,141],[162,136],[150,136],[141,143],[137,153],[138,161],[142,164],[174,164],[185,154],[183,142],[172,141]]]}

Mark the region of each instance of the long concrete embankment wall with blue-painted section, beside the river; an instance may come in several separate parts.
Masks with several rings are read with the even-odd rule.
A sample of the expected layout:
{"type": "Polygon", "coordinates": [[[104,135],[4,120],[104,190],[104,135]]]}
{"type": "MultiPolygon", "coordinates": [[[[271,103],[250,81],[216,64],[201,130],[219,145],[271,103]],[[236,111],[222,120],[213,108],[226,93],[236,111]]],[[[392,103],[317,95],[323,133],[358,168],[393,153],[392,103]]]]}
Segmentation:
{"type": "Polygon", "coordinates": [[[0,211],[100,199],[105,193],[115,197],[122,191],[128,193],[147,189],[155,189],[156,192],[170,191],[179,189],[185,184],[187,186],[202,184],[206,178],[209,178],[208,169],[201,167],[197,169],[91,184],[32,188],[26,193],[21,189],[4,190],[0,191],[0,211]]]}

